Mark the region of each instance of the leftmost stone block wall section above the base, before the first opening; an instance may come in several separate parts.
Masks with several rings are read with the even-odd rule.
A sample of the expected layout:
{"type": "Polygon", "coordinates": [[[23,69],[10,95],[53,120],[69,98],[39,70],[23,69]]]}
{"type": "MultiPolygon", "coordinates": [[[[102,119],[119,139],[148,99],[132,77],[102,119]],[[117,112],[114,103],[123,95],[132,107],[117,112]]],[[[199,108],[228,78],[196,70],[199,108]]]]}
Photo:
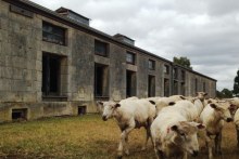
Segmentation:
{"type": "Polygon", "coordinates": [[[0,101],[36,102],[39,28],[33,18],[9,13],[8,3],[0,8],[0,101]]]}

